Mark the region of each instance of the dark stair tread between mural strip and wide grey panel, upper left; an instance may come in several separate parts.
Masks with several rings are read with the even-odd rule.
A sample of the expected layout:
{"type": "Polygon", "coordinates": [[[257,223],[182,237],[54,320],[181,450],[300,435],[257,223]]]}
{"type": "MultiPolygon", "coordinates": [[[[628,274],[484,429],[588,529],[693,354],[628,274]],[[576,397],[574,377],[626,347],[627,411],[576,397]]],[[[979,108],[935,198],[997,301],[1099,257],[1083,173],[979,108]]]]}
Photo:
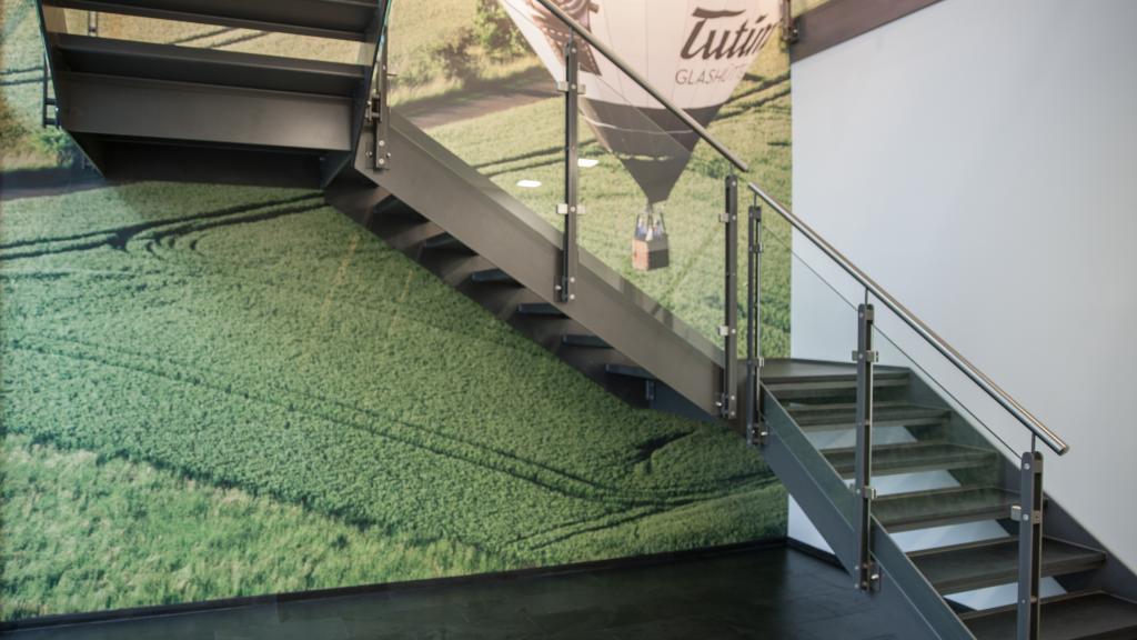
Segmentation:
{"type": "Polygon", "coordinates": [[[360,65],[76,34],[59,34],[56,47],[72,73],[296,93],[350,97],[366,73],[360,65]]]}

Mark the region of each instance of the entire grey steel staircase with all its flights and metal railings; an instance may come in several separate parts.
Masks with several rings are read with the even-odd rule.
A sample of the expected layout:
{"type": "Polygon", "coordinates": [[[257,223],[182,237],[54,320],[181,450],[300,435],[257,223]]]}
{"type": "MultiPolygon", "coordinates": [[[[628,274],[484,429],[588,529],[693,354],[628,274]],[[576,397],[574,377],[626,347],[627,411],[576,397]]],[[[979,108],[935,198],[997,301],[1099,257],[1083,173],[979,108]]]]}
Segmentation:
{"type": "MultiPolygon", "coordinates": [[[[537,1],[581,39],[590,38],[551,0],[537,1]]],[[[729,416],[724,407],[732,399],[753,394],[754,411],[724,425],[762,445],[832,557],[855,576],[850,588],[891,612],[882,632],[905,639],[1137,638],[1132,573],[1040,489],[1021,495],[1024,478],[1035,477],[1021,466],[1040,461],[1037,453],[1019,459],[1020,452],[996,449],[912,368],[869,366],[873,352],[864,345],[858,364],[771,360],[760,368],[756,348],[745,366],[738,363],[733,340],[742,331],[731,322],[739,306],[731,297],[738,269],[730,263],[738,252],[725,252],[733,256],[723,268],[731,302],[719,345],[576,247],[570,225],[566,233],[548,224],[389,109],[384,74],[373,74],[382,65],[387,5],[41,0],[58,124],[110,178],[321,186],[327,202],[360,225],[636,405],[714,420],[729,416]],[[345,40],[359,43],[359,56],[331,63],[72,34],[67,9],[345,40]],[[563,281],[568,248],[578,256],[572,300],[555,286],[563,281]],[[922,532],[939,535],[963,525],[980,533],[911,544],[922,532]],[[1020,541],[1029,544],[1020,548],[1020,541]],[[1024,601],[985,606],[966,596],[999,585],[1021,590],[1024,601]],[[1039,615],[1036,602],[1040,620],[1030,618],[1039,615]]],[[[595,52],[609,55],[598,47],[595,52]]],[[[661,104],[679,120],[686,116],[661,104]]],[[[566,120],[572,126],[573,118],[566,120]]],[[[722,151],[702,126],[683,122],[722,151]]],[[[823,238],[752,189],[756,204],[765,200],[766,211],[786,218],[907,321],[903,306],[823,238]]],[[[753,232],[761,210],[750,213],[753,232]]],[[[728,213],[723,222],[728,241],[737,241],[737,220],[728,213]]],[[[757,231],[746,280],[750,318],[761,302],[757,231]]],[[[756,327],[746,334],[758,342],[756,327]]],[[[933,334],[922,335],[1024,426],[1039,428],[933,334]]],[[[1035,467],[1040,482],[1040,463],[1035,467]]]]}

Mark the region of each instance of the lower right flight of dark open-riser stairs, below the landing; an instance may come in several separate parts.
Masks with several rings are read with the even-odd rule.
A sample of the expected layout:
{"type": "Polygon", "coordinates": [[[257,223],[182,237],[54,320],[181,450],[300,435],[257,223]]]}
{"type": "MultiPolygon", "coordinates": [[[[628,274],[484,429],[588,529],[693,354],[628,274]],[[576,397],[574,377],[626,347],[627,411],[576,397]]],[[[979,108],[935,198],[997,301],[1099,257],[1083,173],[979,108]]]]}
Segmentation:
{"type": "MultiPolygon", "coordinates": [[[[841,520],[830,527],[819,525],[838,557],[850,552],[847,547],[853,538],[854,495],[847,482],[855,474],[856,450],[849,443],[856,429],[856,378],[852,364],[781,361],[763,370],[766,458],[783,481],[789,478],[791,494],[815,523],[841,520]],[[795,481],[803,475],[797,466],[808,468],[810,476],[795,481]],[[814,486],[795,489],[796,482],[814,486]]],[[[1011,517],[1020,495],[1018,485],[1009,482],[1016,477],[1015,469],[910,370],[881,367],[874,378],[874,438],[883,444],[872,450],[872,483],[896,487],[872,501],[873,544],[880,545],[873,550],[875,560],[896,586],[912,599],[923,599],[938,614],[941,638],[1014,638],[1013,605],[973,610],[952,598],[1018,581],[1018,525],[1011,517]],[[904,486],[927,484],[929,475],[939,476],[947,486],[919,491],[904,486]],[[914,482],[889,483],[890,477],[914,482]],[[907,553],[898,552],[894,538],[990,522],[1001,526],[984,530],[989,538],[907,553]],[[936,600],[939,606],[932,607],[936,600]]],[[[1068,592],[1043,600],[1040,637],[1137,637],[1137,602],[1104,590],[1111,582],[1109,555],[1084,531],[1052,524],[1063,519],[1046,520],[1053,534],[1041,543],[1040,574],[1055,579],[1068,592]]],[[[880,594],[887,589],[881,585],[880,594]]]]}

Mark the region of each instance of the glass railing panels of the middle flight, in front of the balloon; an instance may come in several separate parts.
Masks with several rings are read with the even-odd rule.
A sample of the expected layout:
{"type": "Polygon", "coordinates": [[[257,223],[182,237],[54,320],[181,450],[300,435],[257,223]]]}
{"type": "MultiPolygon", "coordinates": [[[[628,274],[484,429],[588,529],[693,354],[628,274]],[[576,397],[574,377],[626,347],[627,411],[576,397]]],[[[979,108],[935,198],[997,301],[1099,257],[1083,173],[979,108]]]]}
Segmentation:
{"type": "MultiPolygon", "coordinates": [[[[703,56],[712,32],[725,28],[708,20],[727,18],[684,13],[673,26],[695,31],[664,34],[657,33],[662,17],[644,8],[633,16],[608,6],[556,7],[575,25],[538,0],[468,0],[446,19],[425,6],[398,3],[389,26],[391,105],[555,229],[566,224],[572,175],[581,212],[576,246],[647,294],[661,321],[692,340],[725,346],[722,216],[727,179],[739,167],[706,141],[703,125],[739,87],[777,18],[746,5],[730,17],[738,35],[731,51],[703,56]],[[575,162],[566,154],[571,41],[580,84],[575,162]],[[683,115],[672,110],[677,105],[683,115]],[[684,122],[688,114],[695,126],[684,122]]],[[[755,85],[747,97],[767,89],[761,80],[747,82],[755,85]]],[[[745,210],[744,203],[742,219],[745,210]]],[[[744,268],[745,252],[739,243],[744,268]]],[[[770,335],[783,348],[786,327],[770,335]]]]}

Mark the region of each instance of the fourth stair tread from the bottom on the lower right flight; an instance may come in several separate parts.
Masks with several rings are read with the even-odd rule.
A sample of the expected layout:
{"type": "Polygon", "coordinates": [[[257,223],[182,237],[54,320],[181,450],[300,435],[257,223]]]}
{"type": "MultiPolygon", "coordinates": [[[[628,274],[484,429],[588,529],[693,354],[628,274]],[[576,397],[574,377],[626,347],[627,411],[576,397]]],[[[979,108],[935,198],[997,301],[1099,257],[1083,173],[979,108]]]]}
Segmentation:
{"type": "MultiPolygon", "coordinates": [[[[827,449],[821,453],[841,477],[853,477],[856,467],[855,448],[827,449]]],[[[996,463],[997,456],[996,452],[987,449],[940,441],[882,444],[872,448],[872,475],[886,476],[991,466],[996,463]]]]}

